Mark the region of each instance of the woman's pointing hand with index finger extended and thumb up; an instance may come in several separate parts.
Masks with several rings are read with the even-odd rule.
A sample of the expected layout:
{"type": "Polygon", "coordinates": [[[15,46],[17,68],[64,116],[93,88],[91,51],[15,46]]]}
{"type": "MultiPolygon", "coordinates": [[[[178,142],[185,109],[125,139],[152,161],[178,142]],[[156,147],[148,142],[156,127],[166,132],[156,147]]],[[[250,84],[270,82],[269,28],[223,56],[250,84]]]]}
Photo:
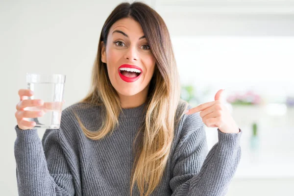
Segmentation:
{"type": "Polygon", "coordinates": [[[207,127],[218,127],[223,133],[239,133],[239,127],[228,109],[221,103],[221,89],[215,96],[215,101],[207,102],[191,108],[186,114],[200,112],[200,117],[207,127]]]}

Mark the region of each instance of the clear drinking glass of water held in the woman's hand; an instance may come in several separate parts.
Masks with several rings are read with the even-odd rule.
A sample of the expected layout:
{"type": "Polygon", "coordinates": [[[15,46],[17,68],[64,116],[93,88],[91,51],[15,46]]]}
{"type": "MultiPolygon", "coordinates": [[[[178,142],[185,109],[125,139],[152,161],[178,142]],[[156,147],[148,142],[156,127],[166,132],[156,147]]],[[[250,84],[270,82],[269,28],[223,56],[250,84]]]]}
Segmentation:
{"type": "Polygon", "coordinates": [[[60,127],[65,75],[26,73],[27,89],[34,92],[28,99],[42,99],[42,106],[26,107],[30,111],[44,111],[38,118],[27,121],[36,122],[35,128],[58,129],[60,127]]]}

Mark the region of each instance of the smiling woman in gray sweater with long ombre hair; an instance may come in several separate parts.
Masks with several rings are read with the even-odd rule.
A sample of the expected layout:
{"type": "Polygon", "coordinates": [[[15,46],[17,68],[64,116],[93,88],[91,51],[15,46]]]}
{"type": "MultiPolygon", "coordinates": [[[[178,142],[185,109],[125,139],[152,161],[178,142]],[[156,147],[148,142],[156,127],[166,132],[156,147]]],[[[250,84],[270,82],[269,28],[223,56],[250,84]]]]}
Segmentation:
{"type": "Polygon", "coordinates": [[[38,117],[24,108],[44,102],[19,91],[20,196],[225,195],[242,132],[221,93],[196,108],[181,100],[164,21],[144,3],[119,4],[102,28],[89,95],[63,110],[60,128],[42,141],[23,118],[38,117]],[[205,124],[219,134],[208,154],[205,124]]]}

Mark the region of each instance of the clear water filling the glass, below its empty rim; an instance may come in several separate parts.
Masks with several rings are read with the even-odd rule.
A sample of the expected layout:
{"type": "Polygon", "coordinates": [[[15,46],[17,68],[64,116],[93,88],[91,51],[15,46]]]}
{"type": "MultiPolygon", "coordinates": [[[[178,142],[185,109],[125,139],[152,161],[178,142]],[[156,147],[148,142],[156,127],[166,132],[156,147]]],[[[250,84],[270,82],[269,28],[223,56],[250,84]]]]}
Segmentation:
{"type": "Polygon", "coordinates": [[[35,121],[35,127],[58,129],[60,127],[64,83],[27,83],[27,88],[34,92],[34,95],[28,99],[42,99],[45,104],[43,106],[26,107],[25,110],[44,110],[48,104],[52,103],[54,103],[54,107],[46,107],[46,113],[42,117],[28,118],[26,120],[35,121]]]}

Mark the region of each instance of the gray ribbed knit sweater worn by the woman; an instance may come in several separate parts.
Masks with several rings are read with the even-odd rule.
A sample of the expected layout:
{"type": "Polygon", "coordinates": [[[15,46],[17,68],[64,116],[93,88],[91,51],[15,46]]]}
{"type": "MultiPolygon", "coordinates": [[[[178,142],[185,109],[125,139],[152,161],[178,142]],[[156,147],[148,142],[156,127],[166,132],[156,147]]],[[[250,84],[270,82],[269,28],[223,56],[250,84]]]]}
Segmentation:
{"type": "MultiPolygon", "coordinates": [[[[119,126],[101,140],[87,138],[71,108],[62,111],[59,129],[47,129],[41,140],[37,129],[15,126],[14,152],[20,196],[129,196],[134,160],[133,140],[143,119],[143,105],[123,109],[119,126]]],[[[178,111],[183,111],[179,104],[178,111]]],[[[191,105],[188,108],[192,108],[191,105]]],[[[101,125],[100,106],[81,109],[90,130],[101,125]]],[[[178,115],[178,114],[177,114],[178,115]]],[[[239,133],[222,133],[208,152],[205,126],[199,113],[183,115],[161,183],[152,196],[224,196],[241,157],[239,133]]],[[[135,186],[133,195],[139,196],[135,186]]]]}

